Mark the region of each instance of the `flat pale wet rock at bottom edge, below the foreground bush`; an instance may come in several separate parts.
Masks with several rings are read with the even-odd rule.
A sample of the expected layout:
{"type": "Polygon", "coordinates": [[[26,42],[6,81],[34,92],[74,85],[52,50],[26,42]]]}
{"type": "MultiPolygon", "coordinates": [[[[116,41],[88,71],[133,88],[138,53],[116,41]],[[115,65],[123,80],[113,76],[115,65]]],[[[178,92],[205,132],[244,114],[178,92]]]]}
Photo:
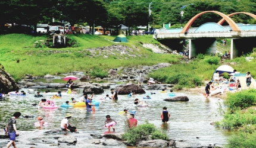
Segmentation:
{"type": "Polygon", "coordinates": [[[138,147],[168,147],[168,141],[162,139],[141,141],[138,147]]]}

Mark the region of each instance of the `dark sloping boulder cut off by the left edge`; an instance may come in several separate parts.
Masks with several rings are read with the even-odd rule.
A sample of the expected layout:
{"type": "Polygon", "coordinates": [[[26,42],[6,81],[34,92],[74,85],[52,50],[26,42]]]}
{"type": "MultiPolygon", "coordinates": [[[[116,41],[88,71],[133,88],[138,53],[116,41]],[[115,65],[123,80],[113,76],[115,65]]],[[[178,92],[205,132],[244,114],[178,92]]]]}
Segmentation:
{"type": "Polygon", "coordinates": [[[4,66],[0,64],[0,91],[7,94],[10,91],[20,89],[11,75],[5,71],[4,66]]]}

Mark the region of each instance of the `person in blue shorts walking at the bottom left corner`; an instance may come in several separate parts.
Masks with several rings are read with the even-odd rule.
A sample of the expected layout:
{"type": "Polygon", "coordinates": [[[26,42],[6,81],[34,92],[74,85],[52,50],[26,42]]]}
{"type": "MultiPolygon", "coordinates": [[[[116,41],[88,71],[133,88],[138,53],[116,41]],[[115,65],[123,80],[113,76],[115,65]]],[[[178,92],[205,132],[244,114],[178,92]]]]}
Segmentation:
{"type": "Polygon", "coordinates": [[[16,119],[18,117],[20,117],[21,113],[20,112],[15,112],[13,114],[13,117],[11,117],[8,120],[8,124],[7,124],[7,132],[8,135],[10,136],[10,142],[7,144],[7,148],[10,147],[13,144],[13,147],[15,148],[15,139],[16,139],[16,135],[18,136],[18,132],[17,132],[17,128],[16,128],[16,119]]]}

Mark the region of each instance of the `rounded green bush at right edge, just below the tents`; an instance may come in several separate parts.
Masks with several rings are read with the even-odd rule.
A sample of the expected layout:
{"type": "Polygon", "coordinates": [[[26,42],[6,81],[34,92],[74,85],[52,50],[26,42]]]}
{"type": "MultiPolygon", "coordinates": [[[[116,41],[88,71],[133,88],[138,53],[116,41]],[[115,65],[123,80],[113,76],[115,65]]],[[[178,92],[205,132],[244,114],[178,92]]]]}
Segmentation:
{"type": "Polygon", "coordinates": [[[227,107],[235,110],[236,108],[246,108],[256,102],[256,90],[249,89],[246,91],[236,92],[235,94],[228,94],[225,104],[227,107]]]}

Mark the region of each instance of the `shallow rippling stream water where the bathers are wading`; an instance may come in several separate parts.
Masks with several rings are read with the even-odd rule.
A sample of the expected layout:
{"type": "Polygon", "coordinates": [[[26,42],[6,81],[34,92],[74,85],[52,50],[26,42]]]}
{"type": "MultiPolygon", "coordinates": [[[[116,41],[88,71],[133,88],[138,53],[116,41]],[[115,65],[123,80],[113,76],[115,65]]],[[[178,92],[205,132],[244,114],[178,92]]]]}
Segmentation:
{"type": "MultiPolygon", "coordinates": [[[[27,92],[26,89],[22,90],[27,92]]],[[[123,132],[127,118],[126,115],[118,115],[118,112],[127,108],[129,111],[136,110],[135,118],[138,119],[138,124],[142,124],[145,120],[148,120],[149,123],[154,123],[158,128],[166,130],[171,139],[193,140],[207,144],[226,143],[226,135],[228,133],[210,125],[211,122],[220,120],[220,117],[216,117],[215,115],[216,103],[220,102],[220,99],[205,99],[201,94],[179,92],[176,93],[177,96],[186,95],[189,101],[166,102],[163,99],[168,98],[167,94],[160,93],[160,91],[150,92],[155,92],[155,95],[151,95],[152,99],[146,99],[147,104],[151,106],[138,108],[133,106],[134,99],[139,98],[139,100],[143,100],[142,97],[146,96],[149,91],[146,94],[139,94],[135,97],[119,95],[117,101],[102,101],[99,98],[107,94],[110,95],[110,91],[105,90],[104,94],[93,97],[93,99],[101,101],[101,104],[95,107],[95,114],[87,112],[85,107],[61,108],[60,105],[65,101],[69,101],[70,96],[63,96],[62,99],[54,99],[55,104],[59,106],[55,110],[33,107],[31,105],[32,103],[38,103],[42,99],[33,97],[33,94],[28,94],[26,97],[10,96],[1,101],[0,126],[5,127],[13,113],[20,111],[22,115],[35,115],[35,118],[18,118],[18,130],[39,129],[34,126],[34,123],[38,122],[36,117],[39,115],[43,117],[43,120],[48,122],[48,126],[43,127],[43,129],[60,128],[60,123],[64,115],[71,113],[73,117],[70,118],[69,123],[77,127],[78,131],[103,134],[107,131],[107,128],[104,128],[105,116],[109,114],[111,118],[117,121],[115,131],[123,132]],[[160,114],[163,111],[163,107],[167,107],[167,110],[171,113],[169,124],[163,124],[161,121],[160,114]],[[199,137],[199,139],[196,139],[196,137],[199,137]]],[[[74,98],[79,101],[81,95],[76,95],[74,98]]],[[[49,97],[45,96],[46,99],[49,97]]]]}

